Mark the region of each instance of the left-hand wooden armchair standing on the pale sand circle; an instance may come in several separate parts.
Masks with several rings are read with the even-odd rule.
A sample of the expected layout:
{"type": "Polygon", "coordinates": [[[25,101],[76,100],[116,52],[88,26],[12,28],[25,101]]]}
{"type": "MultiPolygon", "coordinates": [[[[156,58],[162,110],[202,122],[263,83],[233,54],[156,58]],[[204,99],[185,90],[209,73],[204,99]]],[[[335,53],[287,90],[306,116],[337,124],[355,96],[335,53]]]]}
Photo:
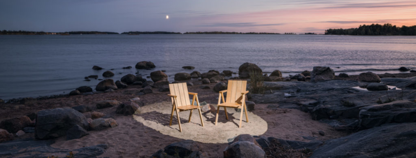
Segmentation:
{"type": "Polygon", "coordinates": [[[172,126],[173,112],[176,111],[176,116],[178,117],[179,130],[182,132],[181,120],[179,118],[179,112],[191,110],[189,114],[189,121],[191,122],[192,110],[198,109],[199,117],[201,118],[201,124],[204,126],[202,121],[201,106],[199,106],[198,94],[188,92],[188,87],[186,83],[175,83],[169,84],[170,96],[172,99],[172,114],[170,115],[169,126],[172,126]],[[189,95],[193,95],[192,104],[189,102],[189,95]],[[197,106],[193,105],[196,101],[197,106]]]}

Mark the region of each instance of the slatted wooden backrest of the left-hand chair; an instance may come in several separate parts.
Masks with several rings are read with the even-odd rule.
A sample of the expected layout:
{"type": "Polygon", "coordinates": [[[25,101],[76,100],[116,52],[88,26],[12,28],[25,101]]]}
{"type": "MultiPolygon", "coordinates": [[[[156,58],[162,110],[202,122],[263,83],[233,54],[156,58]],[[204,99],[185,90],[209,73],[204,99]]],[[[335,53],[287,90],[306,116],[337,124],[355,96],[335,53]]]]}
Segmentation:
{"type": "Polygon", "coordinates": [[[169,90],[170,95],[176,95],[177,107],[191,105],[191,101],[189,101],[188,86],[186,83],[169,84],[169,90]]]}

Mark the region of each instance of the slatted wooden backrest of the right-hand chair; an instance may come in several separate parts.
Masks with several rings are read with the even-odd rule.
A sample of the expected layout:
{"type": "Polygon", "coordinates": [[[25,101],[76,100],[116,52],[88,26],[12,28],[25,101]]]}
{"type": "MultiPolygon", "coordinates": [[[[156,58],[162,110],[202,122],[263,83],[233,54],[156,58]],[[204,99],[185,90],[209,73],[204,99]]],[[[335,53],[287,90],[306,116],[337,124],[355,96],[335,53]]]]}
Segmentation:
{"type": "Polygon", "coordinates": [[[246,92],[246,87],[247,87],[247,81],[228,80],[226,102],[241,103],[241,99],[243,98],[241,93],[246,92]]]}

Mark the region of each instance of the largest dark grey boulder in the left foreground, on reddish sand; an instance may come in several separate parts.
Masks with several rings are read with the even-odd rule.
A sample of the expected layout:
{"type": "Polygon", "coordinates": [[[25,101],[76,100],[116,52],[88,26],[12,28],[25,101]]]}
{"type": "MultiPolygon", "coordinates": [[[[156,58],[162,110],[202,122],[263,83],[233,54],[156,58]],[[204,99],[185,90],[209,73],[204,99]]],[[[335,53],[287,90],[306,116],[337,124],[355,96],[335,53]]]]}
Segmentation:
{"type": "Polygon", "coordinates": [[[79,125],[89,129],[87,118],[72,108],[56,108],[37,112],[35,137],[49,139],[64,136],[66,131],[79,125]]]}

